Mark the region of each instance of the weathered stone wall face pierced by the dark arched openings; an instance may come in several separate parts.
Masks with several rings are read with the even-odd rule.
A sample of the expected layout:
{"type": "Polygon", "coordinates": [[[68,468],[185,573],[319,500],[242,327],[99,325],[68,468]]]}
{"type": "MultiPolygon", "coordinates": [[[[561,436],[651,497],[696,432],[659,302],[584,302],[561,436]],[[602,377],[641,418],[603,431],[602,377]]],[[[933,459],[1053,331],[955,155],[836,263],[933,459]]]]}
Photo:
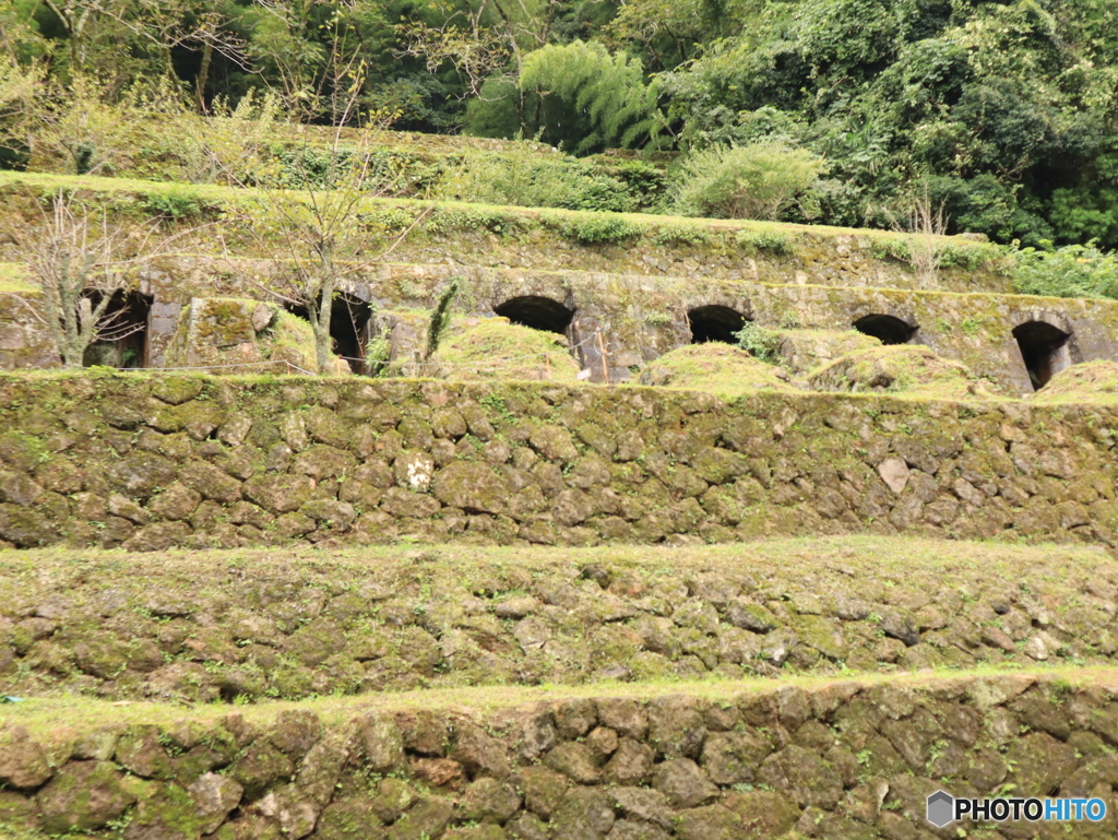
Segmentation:
{"type": "MultiPolygon", "coordinates": [[[[215,294],[214,290],[259,298],[269,271],[258,261],[168,257],[148,273],[145,289],[158,300],[182,302],[191,295],[215,294]]],[[[727,306],[771,329],[850,330],[865,315],[892,315],[919,328],[913,336],[917,343],[964,362],[975,375],[989,377],[1013,394],[1033,390],[1013,338],[1013,329],[1026,321],[1044,321],[1070,333],[1073,362],[1112,359],[1118,352],[1114,301],[797,284],[792,275],[766,276],[767,282],[758,282],[394,263],[366,272],[349,291],[380,309],[428,310],[446,283],[457,279],[455,309],[471,314],[492,313],[512,298],[546,298],[575,313],[571,343],[595,381],[607,375],[613,383],[627,380],[648,361],[689,343],[688,312],[710,305],[727,306]]],[[[159,342],[155,334],[150,340],[159,342]]]]}

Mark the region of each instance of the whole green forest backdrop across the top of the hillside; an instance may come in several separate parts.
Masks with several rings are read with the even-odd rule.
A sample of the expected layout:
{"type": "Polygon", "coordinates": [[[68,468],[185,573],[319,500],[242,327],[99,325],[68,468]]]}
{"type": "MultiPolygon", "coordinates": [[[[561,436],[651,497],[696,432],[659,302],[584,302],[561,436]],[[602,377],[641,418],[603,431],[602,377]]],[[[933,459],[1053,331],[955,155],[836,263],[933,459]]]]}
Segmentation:
{"type": "MultiPolygon", "coordinates": [[[[111,144],[74,140],[70,101],[100,98],[126,122],[169,94],[212,113],[265,91],[277,117],[295,122],[376,113],[397,128],[536,136],[575,154],[671,148],[682,153],[667,170],[676,195],[693,191],[710,161],[740,154],[729,150],[779,145],[817,163],[779,206],[787,220],[890,227],[926,196],[942,206],[948,233],[1118,246],[1111,0],[0,4],[0,123],[34,114],[74,171],[112,161],[111,144]]],[[[101,116],[82,131],[111,134],[113,114],[101,116]]],[[[26,164],[28,132],[7,133],[25,140],[9,141],[0,164],[26,164]]],[[[172,141],[129,171],[155,172],[172,141]]],[[[648,209],[663,187],[596,171],[558,201],[546,167],[500,169],[486,164],[484,179],[448,189],[648,209]]],[[[798,172],[779,174],[799,182],[798,172]]],[[[733,213],[717,204],[676,207],[733,213]]]]}

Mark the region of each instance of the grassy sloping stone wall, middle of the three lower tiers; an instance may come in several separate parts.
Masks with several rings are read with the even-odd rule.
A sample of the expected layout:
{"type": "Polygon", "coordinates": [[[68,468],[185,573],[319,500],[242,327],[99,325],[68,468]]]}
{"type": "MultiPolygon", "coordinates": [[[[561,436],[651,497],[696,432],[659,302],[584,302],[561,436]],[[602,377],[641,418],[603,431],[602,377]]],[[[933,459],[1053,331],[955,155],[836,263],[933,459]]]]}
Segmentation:
{"type": "Polygon", "coordinates": [[[255,702],[1114,664],[1118,563],[878,538],[732,549],[8,553],[0,695],[255,702]]]}

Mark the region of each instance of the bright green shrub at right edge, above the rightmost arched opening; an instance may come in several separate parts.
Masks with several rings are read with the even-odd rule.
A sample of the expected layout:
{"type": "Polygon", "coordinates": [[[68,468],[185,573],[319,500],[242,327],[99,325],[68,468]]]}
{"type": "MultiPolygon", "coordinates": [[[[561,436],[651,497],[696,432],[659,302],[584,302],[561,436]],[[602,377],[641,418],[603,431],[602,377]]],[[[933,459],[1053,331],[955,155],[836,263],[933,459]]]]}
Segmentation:
{"type": "Polygon", "coordinates": [[[1051,298],[1118,299],[1118,254],[1095,242],[1061,248],[1042,240],[1041,248],[1014,247],[1014,290],[1051,298]]]}

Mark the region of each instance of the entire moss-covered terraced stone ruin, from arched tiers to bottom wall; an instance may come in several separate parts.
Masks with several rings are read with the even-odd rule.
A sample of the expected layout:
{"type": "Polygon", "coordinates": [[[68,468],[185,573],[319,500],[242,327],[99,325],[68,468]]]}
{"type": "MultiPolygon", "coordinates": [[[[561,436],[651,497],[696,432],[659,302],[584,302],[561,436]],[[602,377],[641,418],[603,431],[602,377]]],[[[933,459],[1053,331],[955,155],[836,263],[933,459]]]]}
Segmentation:
{"type": "Polygon", "coordinates": [[[1112,837],[1118,304],[494,213],[349,277],[325,376],[202,240],[53,371],[0,245],[0,836],[1112,837]]]}

